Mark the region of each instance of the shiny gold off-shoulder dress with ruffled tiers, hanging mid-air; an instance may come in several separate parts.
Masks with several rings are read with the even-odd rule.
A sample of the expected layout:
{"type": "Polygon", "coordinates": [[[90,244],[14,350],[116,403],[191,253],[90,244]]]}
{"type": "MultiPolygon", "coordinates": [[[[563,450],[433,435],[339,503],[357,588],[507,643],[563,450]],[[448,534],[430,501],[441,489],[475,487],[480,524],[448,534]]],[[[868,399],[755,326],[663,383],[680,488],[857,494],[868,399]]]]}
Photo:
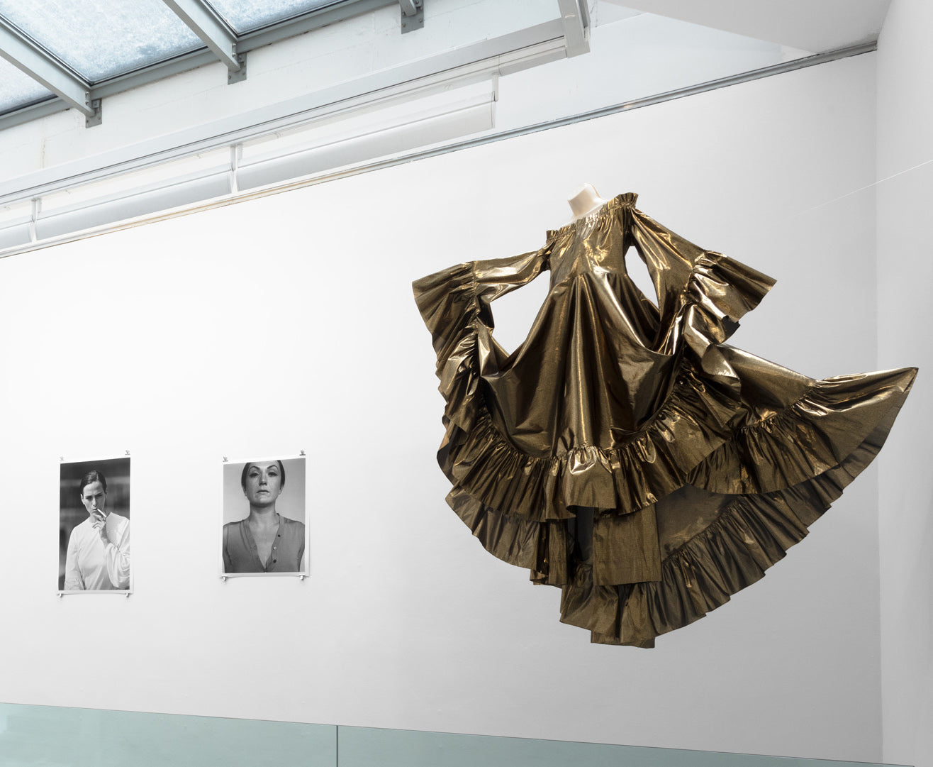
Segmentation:
{"type": "Polygon", "coordinates": [[[877,455],[915,368],[815,380],[723,344],[773,286],[621,194],[516,258],[415,281],[448,504],[562,589],[593,642],[654,646],[757,581],[877,455]],[[625,268],[634,249],[659,303],[625,268]],[[490,302],[550,269],[522,346],[490,302]]]}

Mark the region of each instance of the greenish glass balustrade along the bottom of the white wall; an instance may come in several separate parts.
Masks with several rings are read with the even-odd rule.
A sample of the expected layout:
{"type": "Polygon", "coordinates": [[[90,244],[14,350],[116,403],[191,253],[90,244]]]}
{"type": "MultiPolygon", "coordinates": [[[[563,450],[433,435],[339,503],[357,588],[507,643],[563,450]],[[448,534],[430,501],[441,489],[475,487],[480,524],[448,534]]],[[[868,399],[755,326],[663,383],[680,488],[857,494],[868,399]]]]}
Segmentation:
{"type": "Polygon", "coordinates": [[[855,761],[0,703],[0,767],[285,764],[288,767],[884,767],[855,761]]]}

